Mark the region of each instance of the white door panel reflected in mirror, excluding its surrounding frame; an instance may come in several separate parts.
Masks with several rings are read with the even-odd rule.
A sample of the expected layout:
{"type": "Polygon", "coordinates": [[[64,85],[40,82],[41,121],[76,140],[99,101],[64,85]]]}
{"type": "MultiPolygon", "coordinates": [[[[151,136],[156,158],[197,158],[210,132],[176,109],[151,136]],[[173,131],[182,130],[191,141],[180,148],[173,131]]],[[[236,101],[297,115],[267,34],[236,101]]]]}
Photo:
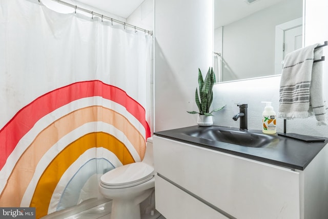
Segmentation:
{"type": "Polygon", "coordinates": [[[283,58],[286,54],[302,48],[302,31],[301,25],[284,30],[283,58]]]}

